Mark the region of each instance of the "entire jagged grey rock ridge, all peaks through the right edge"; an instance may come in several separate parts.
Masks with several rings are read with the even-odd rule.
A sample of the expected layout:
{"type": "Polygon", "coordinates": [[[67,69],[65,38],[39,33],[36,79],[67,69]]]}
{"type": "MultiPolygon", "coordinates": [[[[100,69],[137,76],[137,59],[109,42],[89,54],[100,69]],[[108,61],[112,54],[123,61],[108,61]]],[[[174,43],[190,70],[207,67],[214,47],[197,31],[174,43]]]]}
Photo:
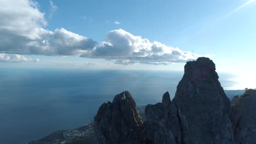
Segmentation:
{"type": "Polygon", "coordinates": [[[102,104],[98,143],[256,143],[256,92],[235,97],[231,109],[215,70],[209,58],[187,62],[173,100],[166,92],[147,105],[144,123],[129,92],[102,104]]]}

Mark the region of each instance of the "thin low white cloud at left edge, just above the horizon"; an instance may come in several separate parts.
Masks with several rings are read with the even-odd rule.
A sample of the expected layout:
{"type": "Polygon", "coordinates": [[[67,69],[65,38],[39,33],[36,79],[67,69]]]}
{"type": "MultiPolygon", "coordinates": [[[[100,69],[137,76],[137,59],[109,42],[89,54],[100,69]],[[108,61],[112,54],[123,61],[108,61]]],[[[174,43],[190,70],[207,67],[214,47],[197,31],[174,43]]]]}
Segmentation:
{"type": "Polygon", "coordinates": [[[30,62],[30,57],[17,54],[0,53],[0,62],[30,62]]]}

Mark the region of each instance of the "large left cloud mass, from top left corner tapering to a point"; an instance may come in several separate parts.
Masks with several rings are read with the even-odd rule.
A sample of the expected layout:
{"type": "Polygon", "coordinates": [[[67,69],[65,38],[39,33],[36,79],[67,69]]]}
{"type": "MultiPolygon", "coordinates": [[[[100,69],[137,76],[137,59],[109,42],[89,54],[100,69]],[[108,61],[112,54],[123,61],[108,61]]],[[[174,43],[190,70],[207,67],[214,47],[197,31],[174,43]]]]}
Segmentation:
{"type": "Polygon", "coordinates": [[[44,29],[46,20],[38,4],[28,0],[1,0],[0,52],[26,55],[77,55],[96,41],[67,31],[44,29]]]}

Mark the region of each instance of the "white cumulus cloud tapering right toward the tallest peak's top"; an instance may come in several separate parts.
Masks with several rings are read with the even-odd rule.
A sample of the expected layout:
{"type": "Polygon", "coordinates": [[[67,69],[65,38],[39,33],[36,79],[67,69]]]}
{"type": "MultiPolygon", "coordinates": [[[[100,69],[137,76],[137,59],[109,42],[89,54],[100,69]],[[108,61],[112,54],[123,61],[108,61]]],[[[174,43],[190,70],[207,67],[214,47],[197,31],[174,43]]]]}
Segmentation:
{"type": "Polygon", "coordinates": [[[170,64],[191,61],[199,55],[183,52],[177,47],[166,46],[158,41],[150,42],[123,29],[110,31],[105,41],[81,57],[104,58],[118,64],[170,64]]]}

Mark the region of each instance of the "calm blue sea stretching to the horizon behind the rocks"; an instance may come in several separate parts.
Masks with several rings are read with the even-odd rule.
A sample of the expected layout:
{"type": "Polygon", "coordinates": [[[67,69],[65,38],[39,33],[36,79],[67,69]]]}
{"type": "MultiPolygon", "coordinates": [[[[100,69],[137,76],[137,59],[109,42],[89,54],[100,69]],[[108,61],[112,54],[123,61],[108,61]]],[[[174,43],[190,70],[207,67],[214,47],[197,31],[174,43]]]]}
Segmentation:
{"type": "MultiPolygon", "coordinates": [[[[129,91],[137,105],[174,96],[183,71],[0,69],[0,140],[25,144],[92,121],[98,107],[129,91]],[[15,137],[15,138],[14,138],[15,137]]],[[[222,86],[232,76],[219,74],[222,86]]]]}

